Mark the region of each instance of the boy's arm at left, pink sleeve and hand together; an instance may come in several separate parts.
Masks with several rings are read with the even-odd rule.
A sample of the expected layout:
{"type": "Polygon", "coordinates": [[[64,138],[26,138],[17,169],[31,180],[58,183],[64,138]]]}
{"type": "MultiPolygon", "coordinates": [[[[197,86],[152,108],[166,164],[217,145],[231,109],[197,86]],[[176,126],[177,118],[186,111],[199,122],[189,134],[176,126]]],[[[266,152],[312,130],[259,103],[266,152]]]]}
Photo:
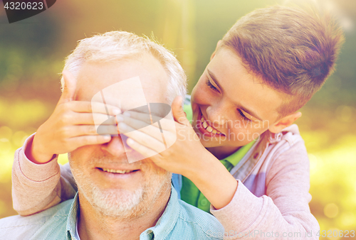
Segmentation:
{"type": "Polygon", "coordinates": [[[63,71],[63,93],[51,116],[16,151],[12,172],[14,209],[29,215],[73,198],[77,188],[69,165],[59,166],[58,154],[86,145],[108,143],[117,134],[115,122],[105,136],[95,129],[94,116],[107,119],[120,114],[115,106],[100,102],[75,101],[76,80],[63,71]],[[61,169],[61,170],[60,170],[61,169]]]}

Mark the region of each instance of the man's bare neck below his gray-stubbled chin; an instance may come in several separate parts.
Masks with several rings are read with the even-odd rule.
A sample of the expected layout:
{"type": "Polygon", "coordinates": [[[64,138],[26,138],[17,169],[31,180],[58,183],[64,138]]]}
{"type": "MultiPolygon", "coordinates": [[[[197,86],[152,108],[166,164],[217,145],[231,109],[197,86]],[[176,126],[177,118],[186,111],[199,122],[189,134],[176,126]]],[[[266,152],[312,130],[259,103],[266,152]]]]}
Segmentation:
{"type": "MultiPolygon", "coordinates": [[[[98,212],[79,193],[78,234],[80,240],[94,239],[140,239],[140,234],[154,227],[162,216],[170,196],[170,187],[165,187],[148,211],[130,219],[108,217],[98,212]]],[[[147,206],[147,203],[146,203],[147,206]]]]}

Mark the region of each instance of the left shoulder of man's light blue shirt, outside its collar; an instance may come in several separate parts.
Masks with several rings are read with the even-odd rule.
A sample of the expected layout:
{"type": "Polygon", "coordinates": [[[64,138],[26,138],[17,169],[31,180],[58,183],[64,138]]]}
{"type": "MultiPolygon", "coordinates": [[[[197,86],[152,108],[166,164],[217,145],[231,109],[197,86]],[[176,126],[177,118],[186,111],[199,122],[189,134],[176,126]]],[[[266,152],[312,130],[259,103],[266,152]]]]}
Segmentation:
{"type": "Polygon", "coordinates": [[[15,215],[0,219],[0,239],[34,239],[48,236],[52,229],[66,228],[66,219],[72,200],[61,202],[43,212],[22,217],[15,215]],[[51,224],[51,227],[48,227],[51,224]]]}

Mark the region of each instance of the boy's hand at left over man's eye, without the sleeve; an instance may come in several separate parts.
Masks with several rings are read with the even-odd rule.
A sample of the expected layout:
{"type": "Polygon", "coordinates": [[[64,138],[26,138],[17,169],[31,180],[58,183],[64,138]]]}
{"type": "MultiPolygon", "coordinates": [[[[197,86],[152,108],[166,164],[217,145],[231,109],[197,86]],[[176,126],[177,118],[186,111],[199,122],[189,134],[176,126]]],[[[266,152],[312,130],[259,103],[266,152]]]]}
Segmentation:
{"type": "MultiPolygon", "coordinates": [[[[100,102],[74,101],[75,78],[63,71],[64,88],[53,114],[37,130],[33,142],[26,148],[26,156],[33,163],[41,164],[52,160],[54,154],[69,153],[85,145],[103,144],[117,134],[116,122],[108,123],[101,136],[95,129],[95,119],[108,120],[105,105],[100,102]]],[[[111,116],[120,114],[119,108],[106,104],[111,116]]]]}

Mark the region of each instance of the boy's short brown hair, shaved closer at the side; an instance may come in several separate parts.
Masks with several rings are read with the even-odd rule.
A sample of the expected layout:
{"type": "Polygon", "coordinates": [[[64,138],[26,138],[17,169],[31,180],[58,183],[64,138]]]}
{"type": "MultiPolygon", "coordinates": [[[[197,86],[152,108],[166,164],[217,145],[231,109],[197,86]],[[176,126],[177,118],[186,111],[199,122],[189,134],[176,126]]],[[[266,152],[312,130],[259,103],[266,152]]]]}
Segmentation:
{"type": "Polygon", "coordinates": [[[284,92],[280,116],[297,111],[335,69],[344,41],[330,16],[298,7],[256,9],[237,21],[221,41],[251,74],[284,92]]]}

